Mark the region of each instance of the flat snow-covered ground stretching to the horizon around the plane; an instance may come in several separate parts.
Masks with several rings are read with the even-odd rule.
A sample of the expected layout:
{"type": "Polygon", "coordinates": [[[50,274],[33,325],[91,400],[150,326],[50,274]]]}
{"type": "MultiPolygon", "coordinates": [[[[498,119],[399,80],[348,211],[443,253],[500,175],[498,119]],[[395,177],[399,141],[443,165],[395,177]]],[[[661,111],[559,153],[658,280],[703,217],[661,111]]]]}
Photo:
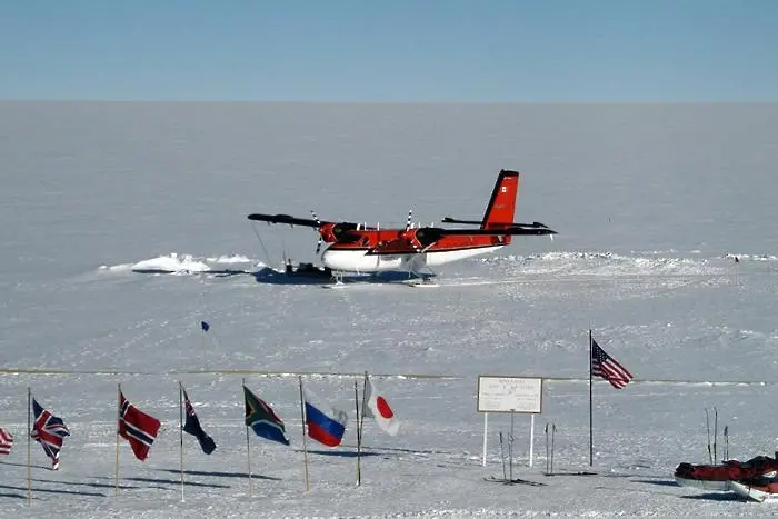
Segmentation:
{"type": "Polygon", "coordinates": [[[719,458],[725,426],[730,457],[778,449],[776,136],[769,104],[0,103],[0,516],[771,515],[672,470],[708,459],[714,407],[719,458]],[[316,261],[317,234],[246,220],[480,218],[500,168],[522,172],[517,220],[559,236],[431,289],[283,282],[268,269],[316,261]],[[594,385],[594,467],[589,328],[636,376],[594,385]],[[402,430],[366,422],[360,487],[353,423],[309,442],[306,491],[298,375],[353,421],[365,370],[402,430]],[[478,375],[546,379],[531,468],[529,417],[513,431],[541,485],[485,481],[510,418],[482,467],[478,375]],[[250,435],[251,496],[242,378],[292,442],[250,435]],[[183,501],[179,380],[218,445],[184,438],[183,501]],[[118,382],[162,429],[146,462],[121,441],[116,497],[118,382]],[[57,472],[31,446],[31,505],[28,386],[72,433],[57,472]]]}

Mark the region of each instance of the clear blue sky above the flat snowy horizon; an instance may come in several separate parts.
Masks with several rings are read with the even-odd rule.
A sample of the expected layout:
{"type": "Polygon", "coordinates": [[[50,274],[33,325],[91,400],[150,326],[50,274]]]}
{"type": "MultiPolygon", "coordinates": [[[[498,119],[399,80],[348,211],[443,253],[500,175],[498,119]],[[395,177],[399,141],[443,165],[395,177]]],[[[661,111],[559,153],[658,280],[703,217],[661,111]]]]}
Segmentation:
{"type": "Polygon", "coordinates": [[[772,0],[4,0],[0,99],[776,101],[772,0]]]}

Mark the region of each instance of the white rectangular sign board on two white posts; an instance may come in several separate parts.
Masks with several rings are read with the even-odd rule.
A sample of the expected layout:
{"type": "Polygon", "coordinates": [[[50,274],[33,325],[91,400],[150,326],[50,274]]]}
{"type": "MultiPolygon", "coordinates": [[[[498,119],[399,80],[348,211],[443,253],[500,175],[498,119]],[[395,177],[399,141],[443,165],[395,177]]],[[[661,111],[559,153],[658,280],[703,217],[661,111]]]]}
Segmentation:
{"type": "MultiPolygon", "coordinates": [[[[530,415],[529,466],[535,456],[535,415],[542,411],[543,381],[540,378],[478,376],[478,412],[483,412],[483,452],[486,467],[487,416],[490,412],[530,415]]],[[[512,416],[511,416],[512,418],[512,416]]],[[[512,436],[512,430],[511,430],[512,436]]]]}

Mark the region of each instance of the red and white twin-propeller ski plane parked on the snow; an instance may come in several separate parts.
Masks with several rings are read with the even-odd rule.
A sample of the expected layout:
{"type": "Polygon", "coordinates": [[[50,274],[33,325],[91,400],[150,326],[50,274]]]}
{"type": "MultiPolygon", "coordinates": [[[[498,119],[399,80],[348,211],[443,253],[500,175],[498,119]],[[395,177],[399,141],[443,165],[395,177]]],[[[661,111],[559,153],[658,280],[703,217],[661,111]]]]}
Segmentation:
{"type": "Polygon", "coordinates": [[[420,269],[438,267],[473,256],[495,252],[510,244],[513,236],[550,236],[556,231],[540,222],[513,222],[519,191],[519,172],[500,171],[483,219],[457,220],[443,218],[443,223],[478,226],[477,228],[415,227],[411,214],[405,228],[381,229],[362,223],[321,221],[289,214],[249,214],[249,220],[268,223],[311,227],[319,231],[316,248],[329,247],[321,262],[333,272],[403,271],[420,275],[420,269]]]}

